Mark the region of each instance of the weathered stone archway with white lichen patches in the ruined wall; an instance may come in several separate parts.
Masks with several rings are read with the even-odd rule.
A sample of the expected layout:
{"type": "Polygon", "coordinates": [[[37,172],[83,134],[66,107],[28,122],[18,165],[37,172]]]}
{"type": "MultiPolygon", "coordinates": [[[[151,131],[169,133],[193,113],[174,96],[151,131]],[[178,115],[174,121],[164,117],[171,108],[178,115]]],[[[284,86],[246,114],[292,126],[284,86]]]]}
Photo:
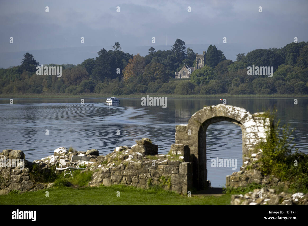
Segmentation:
{"type": "Polygon", "coordinates": [[[270,126],[270,119],[258,117],[262,113],[253,115],[244,108],[219,104],[197,111],[186,125],[176,126],[175,143],[185,146],[185,161],[192,162],[192,180],[188,187],[198,190],[207,187],[206,170],[206,128],[215,122],[230,121],[242,129],[242,158],[251,157],[254,147],[266,139],[266,130],[270,126]]]}

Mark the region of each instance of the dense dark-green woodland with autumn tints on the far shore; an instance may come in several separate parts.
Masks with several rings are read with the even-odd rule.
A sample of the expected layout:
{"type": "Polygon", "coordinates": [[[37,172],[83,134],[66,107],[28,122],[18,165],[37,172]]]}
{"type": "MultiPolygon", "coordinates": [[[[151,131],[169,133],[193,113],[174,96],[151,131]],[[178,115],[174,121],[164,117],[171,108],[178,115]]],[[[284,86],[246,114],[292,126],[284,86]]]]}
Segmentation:
{"type": "Polygon", "coordinates": [[[151,47],[148,55],[124,53],[118,42],[111,50],[102,49],[98,56],[81,64],[62,66],[62,77],[37,75],[40,66],[26,53],[21,65],[0,69],[0,93],[98,93],[129,95],[134,93],[187,94],[307,94],[308,42],[290,43],[277,49],[257,49],[237,60],[227,60],[221,50],[210,45],[206,65],[191,74],[189,80],[174,74],[184,64],[195,65],[196,54],[177,39],[171,50],[151,47]],[[273,77],[247,75],[247,67],[273,66],[273,77]]]}

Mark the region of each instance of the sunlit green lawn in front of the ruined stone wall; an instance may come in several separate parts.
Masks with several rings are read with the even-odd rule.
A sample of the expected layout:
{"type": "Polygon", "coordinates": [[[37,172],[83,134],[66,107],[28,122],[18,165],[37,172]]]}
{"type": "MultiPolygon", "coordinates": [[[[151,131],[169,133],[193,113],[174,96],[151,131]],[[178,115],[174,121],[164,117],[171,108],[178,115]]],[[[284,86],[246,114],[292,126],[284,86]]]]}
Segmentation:
{"type": "Polygon", "coordinates": [[[182,196],[162,189],[142,189],[125,185],[85,188],[50,188],[23,194],[0,196],[1,204],[230,204],[231,194],[222,196],[182,196]],[[46,197],[46,191],[49,197],[46,197]],[[117,191],[120,196],[117,197],[117,191]]]}

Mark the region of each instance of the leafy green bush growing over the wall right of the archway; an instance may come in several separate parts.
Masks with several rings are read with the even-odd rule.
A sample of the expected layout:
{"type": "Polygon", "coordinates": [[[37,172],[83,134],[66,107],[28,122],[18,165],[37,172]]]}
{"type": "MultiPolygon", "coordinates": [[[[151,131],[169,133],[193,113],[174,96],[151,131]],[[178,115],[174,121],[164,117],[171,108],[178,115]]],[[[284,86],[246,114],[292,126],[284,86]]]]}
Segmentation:
{"type": "MultiPolygon", "coordinates": [[[[276,119],[277,110],[267,112],[271,120],[276,119]]],[[[280,120],[267,131],[266,141],[262,141],[257,148],[262,152],[259,160],[259,170],[263,175],[275,175],[282,181],[289,181],[294,192],[308,192],[308,155],[294,149],[290,139],[293,129],[289,124],[279,127],[280,120]],[[281,134],[281,136],[279,135],[281,134]]]]}

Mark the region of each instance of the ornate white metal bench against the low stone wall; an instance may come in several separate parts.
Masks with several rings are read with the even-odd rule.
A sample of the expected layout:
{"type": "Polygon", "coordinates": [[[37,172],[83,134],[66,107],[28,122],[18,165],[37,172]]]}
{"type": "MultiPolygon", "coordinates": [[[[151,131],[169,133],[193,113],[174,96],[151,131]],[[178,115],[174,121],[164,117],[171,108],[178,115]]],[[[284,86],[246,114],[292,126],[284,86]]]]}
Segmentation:
{"type": "Polygon", "coordinates": [[[78,156],[78,155],[73,155],[71,158],[71,161],[68,159],[60,159],[59,161],[56,162],[56,172],[57,170],[64,170],[64,176],[67,174],[70,174],[73,178],[74,175],[74,170],[76,169],[87,169],[89,161],[91,157],[86,157],[86,156],[78,156]],[[87,164],[85,163],[87,162],[87,164]],[[86,168],[81,168],[81,166],[87,165],[86,168]],[[68,171],[68,172],[66,172],[68,171]]]}

